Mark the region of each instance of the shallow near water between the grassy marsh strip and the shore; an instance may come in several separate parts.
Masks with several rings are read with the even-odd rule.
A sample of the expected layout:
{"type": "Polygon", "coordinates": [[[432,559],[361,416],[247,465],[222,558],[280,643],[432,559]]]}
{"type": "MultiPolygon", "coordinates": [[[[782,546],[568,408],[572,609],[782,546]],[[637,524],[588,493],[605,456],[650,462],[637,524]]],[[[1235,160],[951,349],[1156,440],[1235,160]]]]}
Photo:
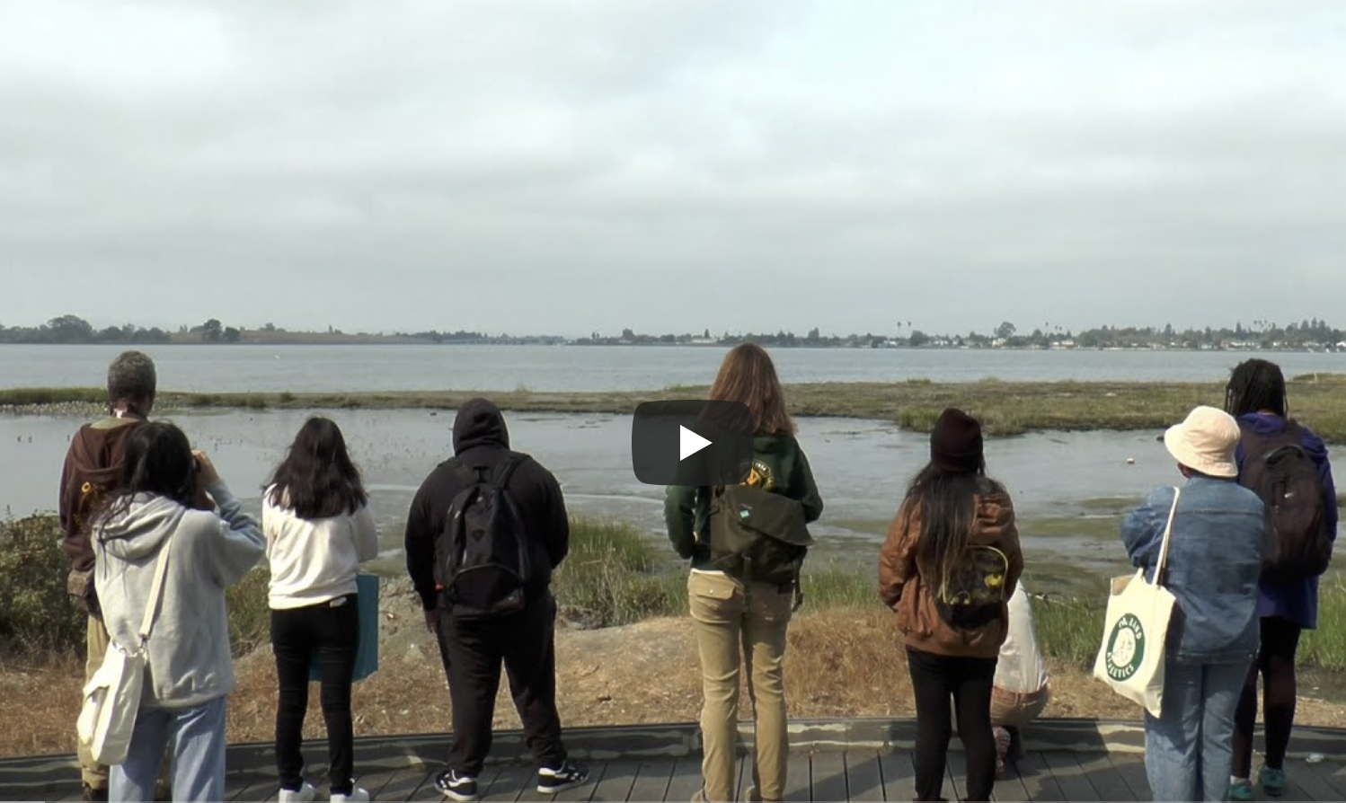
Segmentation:
{"type": "MultiPolygon", "coordinates": [[[[397,564],[405,511],[421,479],[451,452],[451,414],[327,412],[346,432],[370,486],[389,565],[397,564]]],[[[174,420],[207,449],[222,476],[260,510],[260,487],[307,413],[194,413],[174,420]]],[[[0,511],[55,506],[61,461],[81,421],[0,416],[0,511]]],[[[637,522],[662,542],[662,488],[630,468],[627,416],[509,416],[513,445],[560,479],[572,511],[637,522]]],[[[824,554],[872,561],[905,483],[927,455],[923,434],[883,422],[808,418],[801,443],[826,503],[816,535],[824,554]]],[[[1114,529],[1096,517],[1129,506],[1176,477],[1155,433],[1038,433],[993,440],[987,460],[1015,498],[1024,547],[1061,576],[1110,572],[1124,562],[1114,529]],[[1128,457],[1135,463],[1128,464],[1128,457]]]]}

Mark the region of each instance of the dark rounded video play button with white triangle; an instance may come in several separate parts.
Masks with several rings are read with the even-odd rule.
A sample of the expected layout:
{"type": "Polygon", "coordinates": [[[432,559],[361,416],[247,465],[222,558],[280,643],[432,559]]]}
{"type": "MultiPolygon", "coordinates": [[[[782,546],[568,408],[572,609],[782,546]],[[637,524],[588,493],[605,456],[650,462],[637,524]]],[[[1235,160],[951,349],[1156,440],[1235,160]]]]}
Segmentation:
{"type": "Polygon", "coordinates": [[[732,486],[752,469],[752,414],[740,402],[645,402],[631,420],[631,468],[650,486],[732,486]]]}

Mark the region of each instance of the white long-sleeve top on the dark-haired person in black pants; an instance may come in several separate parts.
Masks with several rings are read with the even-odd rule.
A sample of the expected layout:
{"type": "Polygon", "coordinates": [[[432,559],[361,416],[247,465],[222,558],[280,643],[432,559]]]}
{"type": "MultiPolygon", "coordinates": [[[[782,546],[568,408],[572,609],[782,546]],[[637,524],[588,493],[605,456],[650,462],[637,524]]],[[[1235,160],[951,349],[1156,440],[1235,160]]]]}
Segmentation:
{"type": "Polygon", "coordinates": [[[378,557],[378,530],[367,504],[350,515],[302,519],[293,510],[272,504],[267,488],[261,529],[271,564],[268,604],[275,611],[355,593],[359,565],[378,557]]]}

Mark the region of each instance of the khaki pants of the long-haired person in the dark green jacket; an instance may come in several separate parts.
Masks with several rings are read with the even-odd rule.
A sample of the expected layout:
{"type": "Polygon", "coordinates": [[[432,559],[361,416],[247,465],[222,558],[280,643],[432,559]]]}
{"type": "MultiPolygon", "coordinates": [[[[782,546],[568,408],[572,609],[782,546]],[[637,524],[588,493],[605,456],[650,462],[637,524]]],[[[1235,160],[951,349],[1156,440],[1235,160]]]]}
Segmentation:
{"type": "Polygon", "coordinates": [[[747,666],[755,720],[752,781],[760,800],[785,795],[790,755],[785,709],[785,632],[794,589],[743,584],[724,574],[693,572],[686,582],[701,655],[701,775],[705,798],[736,798],[739,662],[747,666]]]}

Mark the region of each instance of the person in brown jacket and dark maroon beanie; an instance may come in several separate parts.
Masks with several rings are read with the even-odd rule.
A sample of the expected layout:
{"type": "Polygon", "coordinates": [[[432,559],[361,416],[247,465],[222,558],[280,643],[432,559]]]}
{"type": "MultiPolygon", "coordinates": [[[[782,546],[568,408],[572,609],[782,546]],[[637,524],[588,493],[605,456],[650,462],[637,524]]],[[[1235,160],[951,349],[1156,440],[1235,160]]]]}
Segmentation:
{"type": "Polygon", "coordinates": [[[941,800],[952,732],[968,756],[966,800],[989,800],[991,689],[1023,573],[1014,504],[985,475],[981,424],[949,408],[879,553],[879,596],[896,612],[917,708],[917,800],[941,800]]]}

